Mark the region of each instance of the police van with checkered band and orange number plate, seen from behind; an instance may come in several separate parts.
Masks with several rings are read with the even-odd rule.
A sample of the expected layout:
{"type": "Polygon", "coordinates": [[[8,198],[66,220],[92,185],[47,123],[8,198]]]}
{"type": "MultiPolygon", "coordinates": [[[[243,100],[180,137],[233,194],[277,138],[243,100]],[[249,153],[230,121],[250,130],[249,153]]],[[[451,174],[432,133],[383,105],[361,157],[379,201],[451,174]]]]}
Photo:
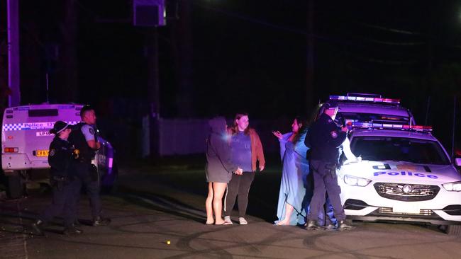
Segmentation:
{"type": "MultiPolygon", "coordinates": [[[[26,183],[48,180],[48,149],[54,137],[49,131],[57,120],[70,125],[80,122],[82,107],[78,104],[40,104],[6,108],[1,131],[1,166],[10,197],[21,197],[26,183]]],[[[102,187],[111,188],[118,174],[113,161],[114,149],[101,137],[99,142],[101,149],[93,163],[98,168],[102,187]]]]}

